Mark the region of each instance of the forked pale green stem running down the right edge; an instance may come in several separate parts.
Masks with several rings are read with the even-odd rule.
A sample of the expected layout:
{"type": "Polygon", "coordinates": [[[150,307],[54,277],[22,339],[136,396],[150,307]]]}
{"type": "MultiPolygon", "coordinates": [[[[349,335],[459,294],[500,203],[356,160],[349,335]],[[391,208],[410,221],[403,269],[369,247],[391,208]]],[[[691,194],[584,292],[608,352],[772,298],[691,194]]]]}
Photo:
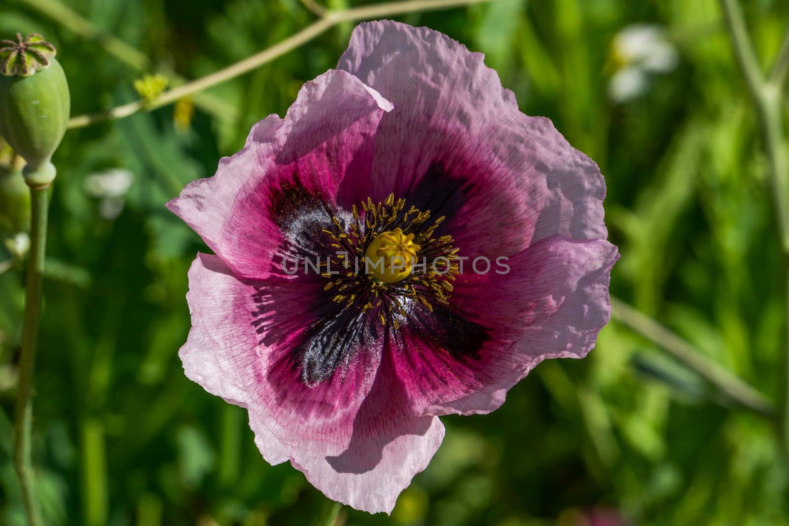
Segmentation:
{"type": "MultiPolygon", "coordinates": [[[[761,66],[753,50],[753,43],[748,35],[745,17],[737,0],[720,0],[724,11],[727,30],[737,56],[737,62],[745,76],[746,85],[753,104],[757,110],[757,120],[761,128],[762,139],[765,141],[770,166],[772,196],[775,200],[776,215],[783,245],[785,260],[789,263],[789,152],[783,131],[783,101],[781,89],[789,70],[789,27],[783,37],[783,44],[776,61],[768,75],[762,73],[761,66]]],[[[789,269],[789,264],[786,265],[789,269]]],[[[789,271],[786,275],[786,309],[789,318],[789,271]]],[[[781,445],[789,466],[789,319],[787,333],[783,395],[777,423],[780,430],[781,445]]]]}

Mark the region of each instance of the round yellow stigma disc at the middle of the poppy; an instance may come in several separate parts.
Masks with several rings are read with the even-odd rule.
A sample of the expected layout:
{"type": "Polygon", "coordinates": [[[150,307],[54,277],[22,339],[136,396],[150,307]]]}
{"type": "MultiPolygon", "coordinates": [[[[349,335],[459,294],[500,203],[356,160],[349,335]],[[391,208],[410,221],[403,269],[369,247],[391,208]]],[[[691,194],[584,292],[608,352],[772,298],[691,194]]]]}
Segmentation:
{"type": "Polygon", "coordinates": [[[367,272],[383,283],[397,283],[408,278],[419,248],[413,242],[413,233],[406,235],[398,228],[382,232],[365,251],[367,272]]]}

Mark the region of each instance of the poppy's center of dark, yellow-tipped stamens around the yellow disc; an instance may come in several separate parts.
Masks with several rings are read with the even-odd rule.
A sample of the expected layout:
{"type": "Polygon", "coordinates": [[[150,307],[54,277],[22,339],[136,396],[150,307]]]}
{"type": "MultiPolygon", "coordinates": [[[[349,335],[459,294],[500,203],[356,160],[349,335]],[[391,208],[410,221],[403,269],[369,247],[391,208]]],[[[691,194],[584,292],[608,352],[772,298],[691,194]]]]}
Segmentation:
{"type": "Polygon", "coordinates": [[[434,303],[448,305],[458,248],[451,236],[433,236],[444,217],[426,226],[430,211],[406,211],[406,200],[395,201],[394,194],[377,204],[368,197],[361,207],[364,218],[353,205],[346,227],[332,216],[335,229],[323,230],[335,249],[327,268],[342,269],[322,274],[331,280],[324,289],[337,293],[334,301],[346,308],[361,306],[362,313],[377,311],[380,323],[389,320],[395,329],[414,301],[431,312],[434,303]]]}

